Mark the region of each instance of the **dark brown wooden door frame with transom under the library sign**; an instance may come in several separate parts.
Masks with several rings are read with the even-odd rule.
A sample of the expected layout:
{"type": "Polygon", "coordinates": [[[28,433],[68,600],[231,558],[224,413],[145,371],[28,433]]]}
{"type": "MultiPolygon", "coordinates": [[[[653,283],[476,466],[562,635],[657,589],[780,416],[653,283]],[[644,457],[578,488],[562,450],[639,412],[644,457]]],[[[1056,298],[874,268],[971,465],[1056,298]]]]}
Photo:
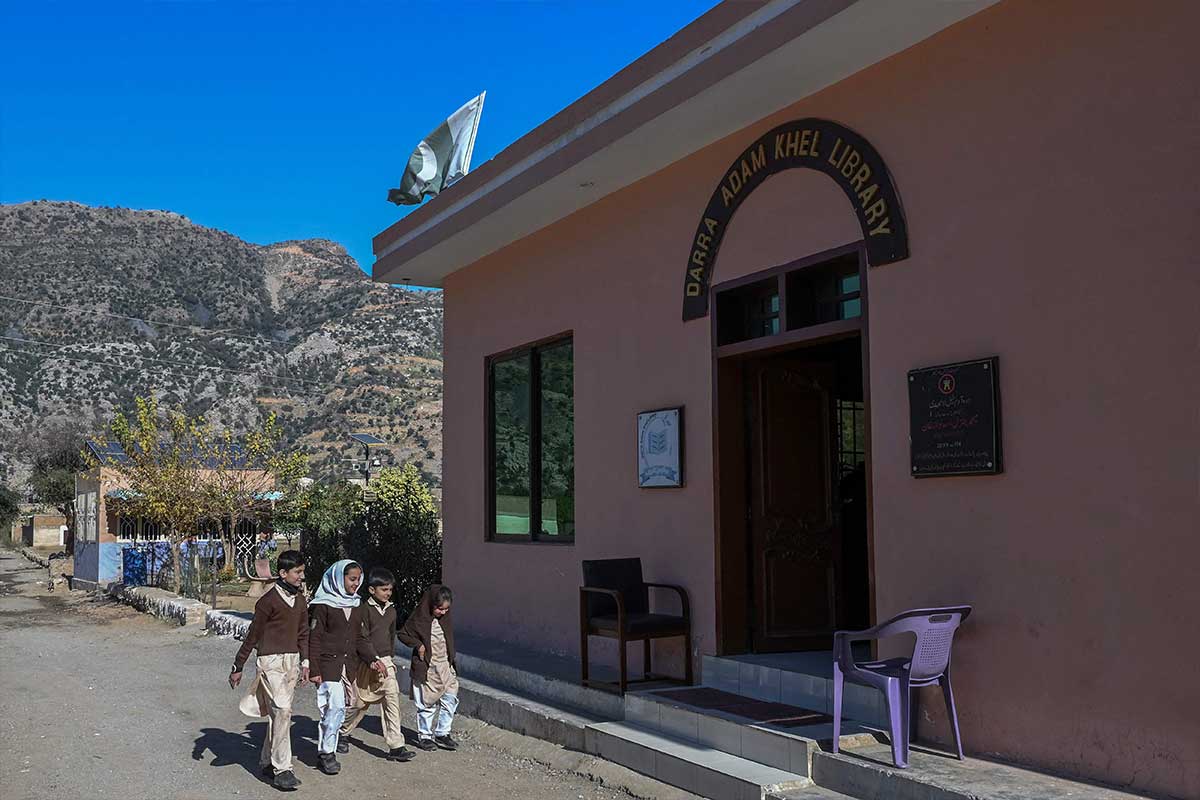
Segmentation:
{"type": "Polygon", "coordinates": [[[870,381],[870,296],[868,284],[866,245],[857,241],[814,253],[787,264],[773,266],[709,289],[712,383],[713,383],[713,522],[716,597],[716,652],[738,655],[751,650],[750,626],[754,613],[750,596],[750,561],[746,558],[746,500],[749,473],[746,470],[744,402],[742,399],[742,365],[746,359],[788,350],[802,350],[812,344],[835,339],[859,338],[863,369],[863,403],[866,446],[866,563],[868,604],[870,622],[876,622],[875,587],[875,513],[874,482],[871,481],[871,381],[870,381]],[[859,297],[862,314],[857,319],[822,323],[787,330],[787,272],[817,266],[839,257],[858,258],[859,297]],[[719,303],[716,295],[758,281],[778,277],[780,294],[780,332],[734,344],[718,345],[719,303]]]}

